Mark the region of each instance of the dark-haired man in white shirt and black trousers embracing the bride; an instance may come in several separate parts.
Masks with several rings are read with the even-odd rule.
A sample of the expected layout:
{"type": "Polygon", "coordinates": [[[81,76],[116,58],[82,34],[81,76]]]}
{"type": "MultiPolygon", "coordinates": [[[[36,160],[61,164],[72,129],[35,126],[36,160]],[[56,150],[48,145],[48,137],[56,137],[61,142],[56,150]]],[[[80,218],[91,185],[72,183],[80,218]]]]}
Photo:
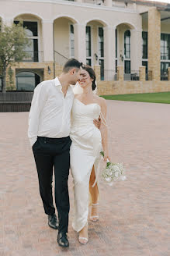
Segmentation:
{"type": "MultiPolygon", "coordinates": [[[[63,72],[54,80],[38,84],[34,90],[29,112],[28,137],[33,148],[39,179],[40,196],[44,212],[48,215],[48,225],[58,229],[57,242],[68,247],[68,213],[70,209],[68,195],[68,175],[70,168],[69,137],[71,128],[71,107],[74,94],[70,84],[80,80],[82,63],[69,59],[63,72]],[[55,203],[52,196],[53,168],[55,176],[55,203]]],[[[97,120],[94,120],[98,126],[97,120]]]]}

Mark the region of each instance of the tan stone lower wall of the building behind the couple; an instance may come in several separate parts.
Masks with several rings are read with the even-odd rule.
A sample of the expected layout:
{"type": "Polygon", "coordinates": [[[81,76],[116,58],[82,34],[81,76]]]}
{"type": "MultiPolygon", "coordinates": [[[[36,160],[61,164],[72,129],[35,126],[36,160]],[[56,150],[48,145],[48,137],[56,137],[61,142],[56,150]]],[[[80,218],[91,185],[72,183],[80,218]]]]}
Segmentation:
{"type": "MultiPolygon", "coordinates": [[[[44,70],[44,80],[49,80],[54,78],[54,64],[53,62],[43,62],[43,63],[29,63],[20,62],[17,66],[12,67],[15,73],[15,69],[43,69],[44,70]],[[51,73],[48,73],[48,66],[50,66],[51,73]]],[[[111,94],[141,94],[141,93],[151,93],[151,92],[162,92],[170,91],[170,80],[168,81],[144,81],[144,67],[141,67],[141,78],[140,81],[101,81],[100,79],[100,66],[95,65],[95,74],[98,84],[98,94],[99,95],[111,95],[111,94]]],[[[55,65],[55,75],[58,76],[62,72],[62,66],[55,65]]],[[[123,70],[120,70],[123,73],[123,70]]]]}

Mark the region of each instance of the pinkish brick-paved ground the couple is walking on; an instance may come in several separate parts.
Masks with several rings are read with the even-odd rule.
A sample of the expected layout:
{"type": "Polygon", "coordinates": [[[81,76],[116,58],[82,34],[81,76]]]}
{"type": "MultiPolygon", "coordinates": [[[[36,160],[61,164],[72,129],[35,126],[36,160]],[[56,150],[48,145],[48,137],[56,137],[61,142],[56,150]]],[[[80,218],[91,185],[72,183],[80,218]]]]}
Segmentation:
{"type": "Polygon", "coordinates": [[[27,112],[0,113],[0,255],[169,256],[170,105],[107,101],[109,148],[127,180],[100,183],[100,220],[89,221],[89,242],[57,246],[47,226],[27,139],[27,112]]]}

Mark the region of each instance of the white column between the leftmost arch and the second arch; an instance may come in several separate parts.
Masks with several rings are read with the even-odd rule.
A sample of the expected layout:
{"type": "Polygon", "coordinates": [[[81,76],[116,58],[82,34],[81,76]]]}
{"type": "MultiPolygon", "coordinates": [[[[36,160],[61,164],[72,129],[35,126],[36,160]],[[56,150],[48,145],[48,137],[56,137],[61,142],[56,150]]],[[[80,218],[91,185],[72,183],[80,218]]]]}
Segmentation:
{"type": "Polygon", "coordinates": [[[54,34],[53,34],[53,21],[42,21],[43,33],[43,60],[44,62],[54,61],[54,34]]]}

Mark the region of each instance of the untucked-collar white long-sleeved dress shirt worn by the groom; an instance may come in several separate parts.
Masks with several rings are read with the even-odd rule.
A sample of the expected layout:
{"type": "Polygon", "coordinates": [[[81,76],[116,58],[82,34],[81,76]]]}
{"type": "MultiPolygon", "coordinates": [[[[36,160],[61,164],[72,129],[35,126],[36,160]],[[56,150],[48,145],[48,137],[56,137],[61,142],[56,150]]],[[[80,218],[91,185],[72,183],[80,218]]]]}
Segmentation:
{"type": "Polygon", "coordinates": [[[74,93],[69,86],[64,98],[61,89],[57,77],[36,86],[29,112],[28,137],[31,146],[36,142],[37,136],[50,138],[69,136],[74,93]]]}

